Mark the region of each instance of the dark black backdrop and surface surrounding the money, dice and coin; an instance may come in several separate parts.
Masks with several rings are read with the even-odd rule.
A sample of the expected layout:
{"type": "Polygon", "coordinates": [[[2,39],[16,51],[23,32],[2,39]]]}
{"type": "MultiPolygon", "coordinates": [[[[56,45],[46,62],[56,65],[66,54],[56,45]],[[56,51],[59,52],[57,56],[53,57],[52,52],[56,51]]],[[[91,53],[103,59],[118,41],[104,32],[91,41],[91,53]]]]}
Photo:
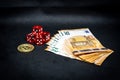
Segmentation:
{"type": "Polygon", "coordinates": [[[0,80],[119,80],[119,14],[117,0],[1,0],[0,80]],[[19,53],[16,48],[26,43],[33,25],[42,25],[51,36],[87,27],[115,52],[100,67],[47,52],[45,44],[19,53]]]}

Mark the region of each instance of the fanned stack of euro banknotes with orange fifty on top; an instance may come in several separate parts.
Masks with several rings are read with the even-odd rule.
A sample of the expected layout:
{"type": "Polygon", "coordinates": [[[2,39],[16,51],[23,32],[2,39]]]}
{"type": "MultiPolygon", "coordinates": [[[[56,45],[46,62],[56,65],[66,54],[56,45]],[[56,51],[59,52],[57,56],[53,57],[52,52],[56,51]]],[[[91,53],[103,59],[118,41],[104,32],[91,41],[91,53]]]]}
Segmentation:
{"type": "Polygon", "coordinates": [[[46,44],[46,51],[99,66],[113,53],[88,28],[59,30],[46,44]]]}

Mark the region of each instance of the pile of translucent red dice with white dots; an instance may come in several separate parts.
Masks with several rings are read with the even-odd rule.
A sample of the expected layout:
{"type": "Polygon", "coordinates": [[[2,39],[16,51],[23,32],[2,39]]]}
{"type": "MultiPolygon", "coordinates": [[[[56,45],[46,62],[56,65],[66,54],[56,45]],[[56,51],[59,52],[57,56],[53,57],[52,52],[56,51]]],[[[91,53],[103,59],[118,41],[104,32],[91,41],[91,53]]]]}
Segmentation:
{"type": "Polygon", "coordinates": [[[33,26],[32,32],[26,36],[27,42],[42,45],[50,40],[50,33],[43,31],[42,26],[33,26]]]}

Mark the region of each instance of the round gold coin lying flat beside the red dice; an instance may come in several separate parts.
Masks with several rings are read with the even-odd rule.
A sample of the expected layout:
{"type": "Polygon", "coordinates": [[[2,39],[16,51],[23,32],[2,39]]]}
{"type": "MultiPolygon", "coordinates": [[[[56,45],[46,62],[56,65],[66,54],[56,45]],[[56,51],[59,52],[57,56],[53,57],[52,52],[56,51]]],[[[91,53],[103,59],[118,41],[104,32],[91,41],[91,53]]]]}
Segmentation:
{"type": "Polygon", "coordinates": [[[34,46],[32,44],[28,44],[28,43],[25,43],[25,44],[20,44],[18,47],[17,47],[17,50],[19,52],[25,52],[25,53],[28,53],[28,52],[31,52],[34,50],[34,46]]]}

